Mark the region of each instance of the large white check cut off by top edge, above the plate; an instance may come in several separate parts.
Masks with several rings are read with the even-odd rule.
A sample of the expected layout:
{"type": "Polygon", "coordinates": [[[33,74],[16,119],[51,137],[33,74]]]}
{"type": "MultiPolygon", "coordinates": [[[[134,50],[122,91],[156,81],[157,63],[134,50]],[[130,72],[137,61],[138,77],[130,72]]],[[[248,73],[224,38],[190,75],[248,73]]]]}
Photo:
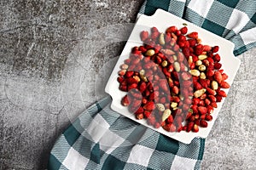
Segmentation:
{"type": "Polygon", "coordinates": [[[188,7],[195,11],[195,13],[200,14],[202,17],[206,18],[207,14],[212,7],[214,0],[191,0],[188,7]]]}

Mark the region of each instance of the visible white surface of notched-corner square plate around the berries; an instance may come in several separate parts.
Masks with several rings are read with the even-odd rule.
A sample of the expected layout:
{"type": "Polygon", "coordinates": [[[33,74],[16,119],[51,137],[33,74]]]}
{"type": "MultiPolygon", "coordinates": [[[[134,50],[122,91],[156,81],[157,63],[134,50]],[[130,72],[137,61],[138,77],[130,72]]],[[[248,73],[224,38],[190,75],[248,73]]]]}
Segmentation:
{"type": "MultiPolygon", "coordinates": [[[[189,32],[198,32],[199,37],[202,40],[202,44],[207,44],[212,47],[215,45],[219,46],[218,54],[221,56],[220,62],[223,65],[222,69],[224,69],[224,72],[229,76],[227,82],[229,82],[231,85],[240,66],[240,60],[237,59],[233,54],[234,44],[224,39],[223,37],[218,37],[210,31],[204,30],[201,27],[195,26],[194,24],[178,18],[173,14],[158,9],[154,15],[141,15],[140,18],[137,20],[137,23],[134,26],[133,31],[131,32],[131,36],[129,37],[125,48],[121,56],[119,57],[119,60],[115,65],[111,76],[108,79],[105,91],[106,93],[110,94],[113,99],[113,102],[111,104],[111,108],[113,109],[113,111],[117,111],[121,115],[126,116],[134,120],[135,122],[139,122],[146,127],[152,128],[159,133],[163,133],[172,139],[177,139],[178,141],[181,141],[185,144],[189,144],[191,140],[195,137],[207,138],[207,135],[210,133],[212,125],[218,116],[218,112],[220,111],[224,103],[224,99],[222,100],[222,102],[218,103],[218,108],[214,108],[214,111],[212,113],[213,119],[211,122],[208,122],[207,128],[200,127],[198,133],[187,133],[184,131],[181,131],[180,133],[170,133],[164,130],[162,127],[154,128],[152,126],[149,126],[145,119],[137,120],[134,114],[131,114],[128,111],[127,107],[121,105],[120,101],[126,93],[119,90],[119,82],[117,82],[118,71],[120,70],[119,66],[124,63],[125,59],[129,58],[129,55],[131,54],[131,48],[143,45],[143,42],[140,39],[141,31],[150,31],[150,28],[155,26],[159,29],[160,32],[165,32],[169,26],[177,26],[177,28],[180,29],[183,27],[183,23],[186,23],[188,25],[187,27],[189,32]]],[[[229,89],[224,89],[224,91],[228,94],[229,89]]]]}

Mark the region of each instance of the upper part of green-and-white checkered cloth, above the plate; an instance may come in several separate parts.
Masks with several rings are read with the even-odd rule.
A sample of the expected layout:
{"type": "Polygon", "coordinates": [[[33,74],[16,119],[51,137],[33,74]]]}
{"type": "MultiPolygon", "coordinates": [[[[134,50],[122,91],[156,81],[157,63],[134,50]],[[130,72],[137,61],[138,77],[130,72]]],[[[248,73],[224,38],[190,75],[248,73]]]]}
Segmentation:
{"type": "Polygon", "coordinates": [[[139,14],[158,8],[234,42],[236,56],[256,47],[255,0],[146,0],[139,14]]]}

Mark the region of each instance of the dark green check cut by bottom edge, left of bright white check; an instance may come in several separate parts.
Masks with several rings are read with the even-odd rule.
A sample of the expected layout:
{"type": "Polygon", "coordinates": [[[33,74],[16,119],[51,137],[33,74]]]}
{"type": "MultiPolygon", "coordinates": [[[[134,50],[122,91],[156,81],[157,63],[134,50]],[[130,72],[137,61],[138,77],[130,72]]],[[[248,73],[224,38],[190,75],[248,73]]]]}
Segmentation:
{"type": "Polygon", "coordinates": [[[119,170],[124,169],[125,162],[120,161],[119,159],[109,155],[108,158],[104,161],[104,164],[102,166],[102,170],[119,170]]]}

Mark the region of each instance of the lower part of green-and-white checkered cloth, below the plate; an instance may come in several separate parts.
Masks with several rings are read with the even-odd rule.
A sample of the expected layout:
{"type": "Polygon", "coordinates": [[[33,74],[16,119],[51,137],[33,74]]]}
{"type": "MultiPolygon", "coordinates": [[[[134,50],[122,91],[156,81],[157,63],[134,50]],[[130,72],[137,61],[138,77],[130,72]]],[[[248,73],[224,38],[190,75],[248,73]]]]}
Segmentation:
{"type": "Polygon", "coordinates": [[[49,169],[199,169],[205,139],[183,144],[110,109],[107,97],[61,134],[49,169]]]}

